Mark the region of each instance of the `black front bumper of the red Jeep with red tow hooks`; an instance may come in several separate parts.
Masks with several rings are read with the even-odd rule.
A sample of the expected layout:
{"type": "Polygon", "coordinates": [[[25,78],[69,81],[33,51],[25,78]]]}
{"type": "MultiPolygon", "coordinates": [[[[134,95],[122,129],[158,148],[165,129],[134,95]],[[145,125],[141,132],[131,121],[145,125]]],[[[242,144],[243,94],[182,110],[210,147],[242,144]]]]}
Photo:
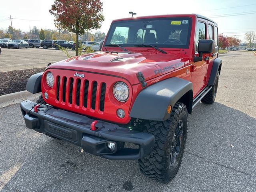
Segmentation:
{"type": "Polygon", "coordinates": [[[104,121],[98,121],[93,131],[94,119],[43,104],[35,112],[36,104],[30,100],[20,103],[28,128],[81,146],[90,154],[112,160],[134,160],[149,154],[154,147],[155,138],[151,134],[104,121]],[[116,143],[114,151],[108,149],[108,142],[116,143]],[[138,148],[123,147],[125,143],[135,144],[138,148]]]}

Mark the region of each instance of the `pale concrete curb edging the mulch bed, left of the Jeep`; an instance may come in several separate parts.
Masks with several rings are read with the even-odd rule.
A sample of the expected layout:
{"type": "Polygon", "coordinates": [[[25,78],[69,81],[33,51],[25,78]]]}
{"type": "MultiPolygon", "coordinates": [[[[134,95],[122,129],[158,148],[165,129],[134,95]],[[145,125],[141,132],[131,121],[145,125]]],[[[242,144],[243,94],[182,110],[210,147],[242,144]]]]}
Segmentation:
{"type": "Polygon", "coordinates": [[[0,96],[0,108],[20,103],[26,99],[32,100],[40,96],[41,93],[32,94],[28,91],[20,91],[0,96]]]}

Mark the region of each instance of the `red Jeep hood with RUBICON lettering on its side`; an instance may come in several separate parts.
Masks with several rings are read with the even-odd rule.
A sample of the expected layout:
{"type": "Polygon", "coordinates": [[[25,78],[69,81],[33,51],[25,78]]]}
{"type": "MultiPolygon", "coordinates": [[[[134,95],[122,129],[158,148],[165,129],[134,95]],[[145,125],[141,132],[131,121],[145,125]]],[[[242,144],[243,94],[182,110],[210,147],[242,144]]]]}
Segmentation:
{"type": "Polygon", "coordinates": [[[136,77],[138,72],[142,72],[147,81],[183,66],[184,60],[181,57],[169,53],[99,52],[62,60],[48,66],[47,69],[70,69],[74,70],[74,74],[77,71],[85,74],[86,72],[110,74],[126,78],[133,85],[140,83],[136,77]]]}

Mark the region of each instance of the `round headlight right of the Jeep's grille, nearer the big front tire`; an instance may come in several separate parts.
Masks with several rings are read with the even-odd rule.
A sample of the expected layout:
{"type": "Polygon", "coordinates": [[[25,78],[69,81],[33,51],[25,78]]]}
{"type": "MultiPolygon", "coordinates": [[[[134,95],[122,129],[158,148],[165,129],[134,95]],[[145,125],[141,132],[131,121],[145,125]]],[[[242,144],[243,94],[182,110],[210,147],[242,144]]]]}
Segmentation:
{"type": "Polygon", "coordinates": [[[123,82],[118,82],[115,84],[114,89],[114,96],[118,101],[125,102],[129,96],[129,88],[123,82]]]}

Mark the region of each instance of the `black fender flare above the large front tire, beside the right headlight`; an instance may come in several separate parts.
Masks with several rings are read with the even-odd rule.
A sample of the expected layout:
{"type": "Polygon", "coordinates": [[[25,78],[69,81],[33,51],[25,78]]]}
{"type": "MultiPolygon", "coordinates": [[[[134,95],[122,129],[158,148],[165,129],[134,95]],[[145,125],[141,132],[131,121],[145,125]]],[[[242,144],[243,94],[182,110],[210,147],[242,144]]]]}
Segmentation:
{"type": "Polygon", "coordinates": [[[170,118],[167,107],[172,108],[178,100],[185,100],[188,112],[192,112],[192,82],[172,77],[143,89],[137,96],[130,117],[145,120],[164,121],[170,118]]]}

